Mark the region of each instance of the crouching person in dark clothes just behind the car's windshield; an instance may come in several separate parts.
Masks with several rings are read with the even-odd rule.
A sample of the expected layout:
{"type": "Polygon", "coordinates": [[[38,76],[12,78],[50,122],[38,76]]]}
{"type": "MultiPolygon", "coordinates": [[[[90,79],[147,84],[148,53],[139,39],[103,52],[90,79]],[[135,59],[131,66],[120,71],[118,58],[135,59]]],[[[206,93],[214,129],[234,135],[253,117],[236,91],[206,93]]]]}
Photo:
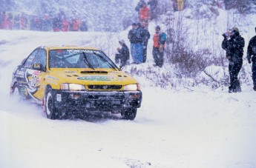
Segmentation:
{"type": "Polygon", "coordinates": [[[118,53],[116,54],[115,62],[118,64],[120,60],[120,69],[122,69],[122,67],[125,67],[128,64],[130,53],[124,40],[119,40],[119,44],[122,46],[122,48],[117,48],[118,53]]]}

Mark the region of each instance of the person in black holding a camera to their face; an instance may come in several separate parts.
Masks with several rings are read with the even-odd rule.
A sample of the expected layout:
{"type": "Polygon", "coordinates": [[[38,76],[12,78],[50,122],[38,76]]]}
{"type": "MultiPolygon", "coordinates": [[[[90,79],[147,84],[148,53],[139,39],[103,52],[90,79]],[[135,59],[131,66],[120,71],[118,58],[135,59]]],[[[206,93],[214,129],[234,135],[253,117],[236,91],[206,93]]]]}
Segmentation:
{"type": "Polygon", "coordinates": [[[224,37],[222,48],[226,50],[226,58],[229,60],[229,93],[240,93],[240,81],[237,76],[243,65],[244,38],[240,36],[237,27],[233,27],[222,36],[224,37]]]}

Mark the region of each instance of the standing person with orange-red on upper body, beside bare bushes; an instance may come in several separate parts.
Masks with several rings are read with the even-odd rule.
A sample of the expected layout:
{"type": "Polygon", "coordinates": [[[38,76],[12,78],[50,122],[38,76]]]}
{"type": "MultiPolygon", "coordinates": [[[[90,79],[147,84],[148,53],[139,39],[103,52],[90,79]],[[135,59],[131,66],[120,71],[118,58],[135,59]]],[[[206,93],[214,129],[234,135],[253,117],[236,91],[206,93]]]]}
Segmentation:
{"type": "Polygon", "coordinates": [[[156,33],[153,37],[153,58],[154,58],[154,66],[163,67],[163,53],[165,49],[165,41],[160,42],[160,26],[156,27],[156,33]]]}

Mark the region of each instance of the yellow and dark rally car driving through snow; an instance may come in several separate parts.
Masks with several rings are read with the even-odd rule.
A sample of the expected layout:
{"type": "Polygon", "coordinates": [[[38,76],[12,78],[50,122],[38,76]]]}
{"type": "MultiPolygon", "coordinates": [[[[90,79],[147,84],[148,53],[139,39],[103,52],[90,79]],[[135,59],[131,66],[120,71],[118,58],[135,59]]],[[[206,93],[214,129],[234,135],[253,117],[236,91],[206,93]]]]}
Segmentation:
{"type": "Polygon", "coordinates": [[[120,112],[134,120],[138,82],[92,47],[38,47],[13,72],[10,94],[42,104],[47,118],[69,112],[120,112]]]}

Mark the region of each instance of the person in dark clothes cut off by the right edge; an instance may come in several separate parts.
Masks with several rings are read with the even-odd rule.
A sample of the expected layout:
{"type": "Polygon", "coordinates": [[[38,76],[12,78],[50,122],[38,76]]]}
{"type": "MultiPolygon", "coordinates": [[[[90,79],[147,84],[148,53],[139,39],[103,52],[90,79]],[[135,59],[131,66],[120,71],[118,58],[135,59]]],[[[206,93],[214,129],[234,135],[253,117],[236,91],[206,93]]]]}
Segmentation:
{"type": "MultiPolygon", "coordinates": [[[[255,27],[256,32],[256,27],[255,27]]],[[[247,48],[247,59],[249,64],[252,63],[252,81],[253,90],[256,91],[256,36],[251,38],[247,48]]]]}

